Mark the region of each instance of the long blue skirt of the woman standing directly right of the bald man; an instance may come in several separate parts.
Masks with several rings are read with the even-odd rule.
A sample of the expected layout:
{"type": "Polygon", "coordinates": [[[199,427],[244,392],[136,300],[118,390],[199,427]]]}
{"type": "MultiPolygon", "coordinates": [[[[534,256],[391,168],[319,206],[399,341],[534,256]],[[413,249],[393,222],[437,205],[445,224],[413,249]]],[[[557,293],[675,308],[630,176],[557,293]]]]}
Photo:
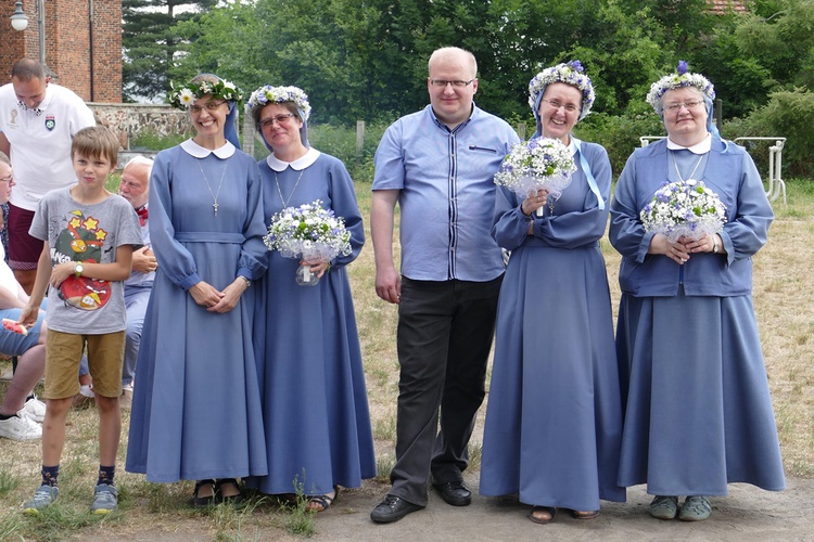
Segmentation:
{"type": "Polygon", "coordinates": [[[622,400],[597,246],[522,247],[497,314],[480,492],[578,511],[616,486],[622,400]]]}

